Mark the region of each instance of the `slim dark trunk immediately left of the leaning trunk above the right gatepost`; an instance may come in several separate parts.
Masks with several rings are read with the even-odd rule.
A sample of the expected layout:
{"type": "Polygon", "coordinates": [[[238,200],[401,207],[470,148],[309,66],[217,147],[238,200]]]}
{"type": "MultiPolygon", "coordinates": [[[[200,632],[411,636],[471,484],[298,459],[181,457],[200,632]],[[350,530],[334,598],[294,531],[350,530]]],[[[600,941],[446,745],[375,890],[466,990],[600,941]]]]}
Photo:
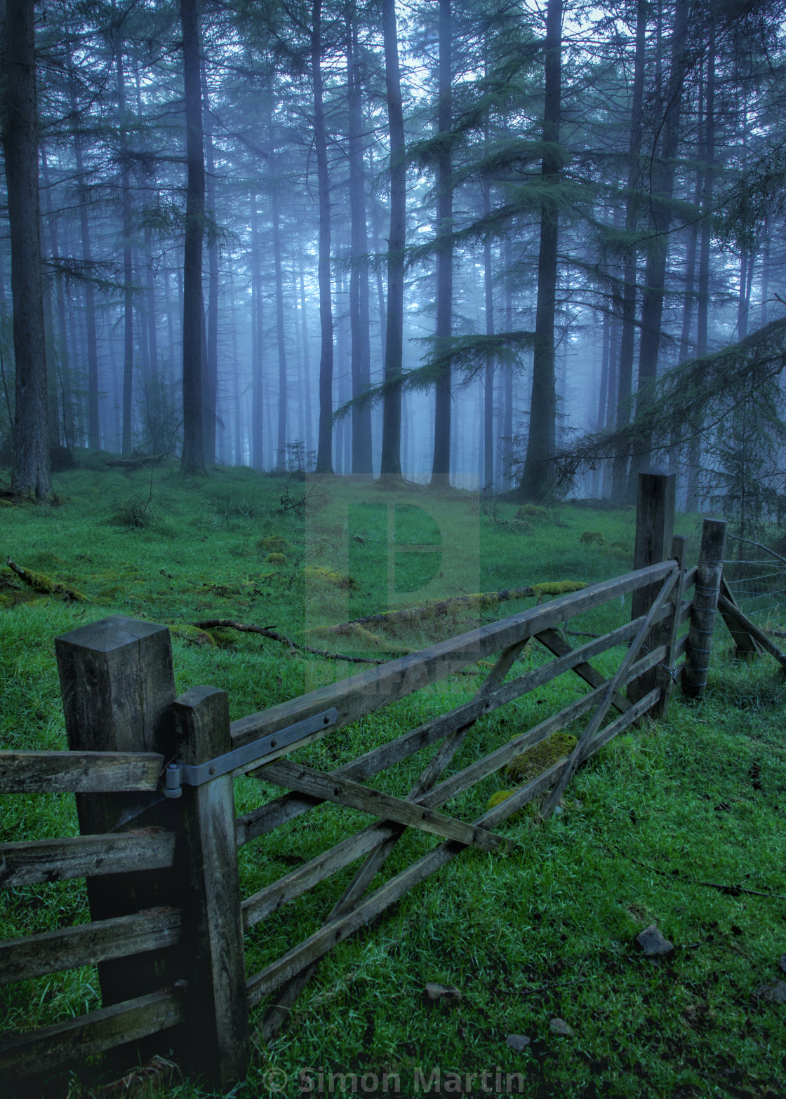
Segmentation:
{"type": "MultiPolygon", "coordinates": [[[[626,236],[630,240],[639,224],[641,203],[642,109],[644,103],[644,60],[646,52],[647,0],[638,0],[635,15],[635,54],[631,96],[630,142],[628,145],[628,195],[626,198],[626,236]]],[[[636,249],[629,244],[624,254],[622,288],[622,333],[620,337],[619,384],[610,391],[609,409],[616,408],[615,426],[624,428],[630,421],[630,397],[633,391],[633,354],[635,346],[636,249]]],[[[619,502],[626,490],[628,448],[619,447],[611,467],[611,499],[619,502]]]]}

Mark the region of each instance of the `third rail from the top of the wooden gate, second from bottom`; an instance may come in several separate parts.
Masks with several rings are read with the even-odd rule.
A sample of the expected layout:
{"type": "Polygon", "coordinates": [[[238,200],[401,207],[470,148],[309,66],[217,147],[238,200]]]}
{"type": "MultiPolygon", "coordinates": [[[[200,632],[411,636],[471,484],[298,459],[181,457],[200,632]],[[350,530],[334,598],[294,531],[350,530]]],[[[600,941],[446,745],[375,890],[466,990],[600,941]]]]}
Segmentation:
{"type": "MultiPolygon", "coordinates": [[[[641,674],[641,671],[646,671],[650,667],[662,660],[665,655],[665,645],[660,646],[653,653],[647,653],[645,657],[633,665],[630,675],[635,676],[641,674]]],[[[560,729],[565,729],[573,721],[583,717],[588,710],[591,710],[593,706],[597,704],[604,686],[577,699],[571,706],[561,710],[560,713],[551,714],[538,725],[521,733],[512,741],[508,741],[507,744],[503,744],[481,759],[476,759],[463,770],[443,779],[442,782],[420,797],[418,803],[438,808],[460,793],[463,793],[469,787],[475,786],[481,779],[492,775],[527,748],[540,744],[541,741],[551,736],[552,733],[557,732],[560,729]]],[[[265,919],[266,915],[277,911],[283,904],[301,897],[320,881],[324,881],[325,878],[331,877],[345,866],[350,866],[356,859],[367,855],[379,843],[394,836],[397,831],[397,825],[388,822],[380,821],[369,824],[354,835],[347,836],[346,840],[342,840],[329,851],[317,855],[308,863],[303,863],[302,866],[296,867],[289,874],[273,881],[269,886],[266,886],[243,901],[244,926],[246,929],[254,926],[254,924],[265,919]]]]}

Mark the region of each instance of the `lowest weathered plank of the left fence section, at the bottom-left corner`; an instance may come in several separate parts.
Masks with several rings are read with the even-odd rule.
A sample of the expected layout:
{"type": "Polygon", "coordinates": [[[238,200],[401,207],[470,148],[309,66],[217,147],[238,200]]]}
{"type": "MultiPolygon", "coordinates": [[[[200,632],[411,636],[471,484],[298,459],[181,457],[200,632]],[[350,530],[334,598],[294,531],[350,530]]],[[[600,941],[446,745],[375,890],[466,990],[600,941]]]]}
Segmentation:
{"type": "Polygon", "coordinates": [[[0,1045],[0,1076],[20,1080],[80,1063],[118,1045],[168,1030],[184,1018],[180,997],[160,989],[0,1045]]]}

